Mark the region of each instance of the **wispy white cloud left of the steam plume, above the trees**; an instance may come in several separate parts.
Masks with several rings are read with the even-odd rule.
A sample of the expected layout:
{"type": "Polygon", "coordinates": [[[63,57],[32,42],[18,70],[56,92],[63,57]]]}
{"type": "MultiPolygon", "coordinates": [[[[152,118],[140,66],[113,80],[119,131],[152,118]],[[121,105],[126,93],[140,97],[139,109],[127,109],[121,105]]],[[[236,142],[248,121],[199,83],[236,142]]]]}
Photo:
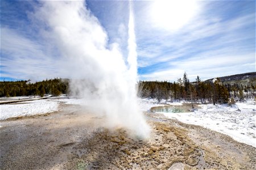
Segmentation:
{"type": "Polygon", "coordinates": [[[24,34],[1,27],[1,76],[14,79],[53,78],[61,76],[59,63],[48,56],[43,44],[24,34]]]}

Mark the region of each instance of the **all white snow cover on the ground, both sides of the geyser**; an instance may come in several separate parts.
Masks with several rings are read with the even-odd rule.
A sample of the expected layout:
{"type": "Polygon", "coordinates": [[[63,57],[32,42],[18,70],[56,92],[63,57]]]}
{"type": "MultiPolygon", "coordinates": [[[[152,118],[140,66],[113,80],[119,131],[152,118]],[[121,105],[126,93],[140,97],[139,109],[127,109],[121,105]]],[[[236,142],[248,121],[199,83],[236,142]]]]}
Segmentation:
{"type": "MultiPolygon", "coordinates": [[[[0,105],[0,120],[10,117],[28,116],[55,112],[61,102],[65,104],[82,104],[82,99],[62,97],[50,97],[49,99],[24,101],[15,104],[0,105]]],[[[151,107],[170,105],[181,105],[183,101],[167,102],[154,99],[138,99],[142,111],[149,111],[151,107]]],[[[201,109],[189,113],[163,113],[169,118],[186,124],[200,125],[220,133],[224,133],[236,141],[256,147],[256,105],[254,101],[236,103],[232,107],[228,105],[200,105],[201,109]]]]}

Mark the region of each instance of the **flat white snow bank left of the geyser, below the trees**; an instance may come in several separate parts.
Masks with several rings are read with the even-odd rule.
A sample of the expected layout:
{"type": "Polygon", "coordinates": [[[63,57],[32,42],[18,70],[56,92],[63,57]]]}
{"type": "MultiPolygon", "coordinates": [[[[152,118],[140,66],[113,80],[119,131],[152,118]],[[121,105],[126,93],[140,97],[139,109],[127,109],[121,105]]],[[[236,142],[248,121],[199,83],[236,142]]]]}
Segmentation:
{"type": "Polygon", "coordinates": [[[42,99],[32,100],[17,104],[0,105],[0,120],[10,117],[29,116],[35,114],[44,114],[58,110],[59,103],[55,100],[42,99]]]}

